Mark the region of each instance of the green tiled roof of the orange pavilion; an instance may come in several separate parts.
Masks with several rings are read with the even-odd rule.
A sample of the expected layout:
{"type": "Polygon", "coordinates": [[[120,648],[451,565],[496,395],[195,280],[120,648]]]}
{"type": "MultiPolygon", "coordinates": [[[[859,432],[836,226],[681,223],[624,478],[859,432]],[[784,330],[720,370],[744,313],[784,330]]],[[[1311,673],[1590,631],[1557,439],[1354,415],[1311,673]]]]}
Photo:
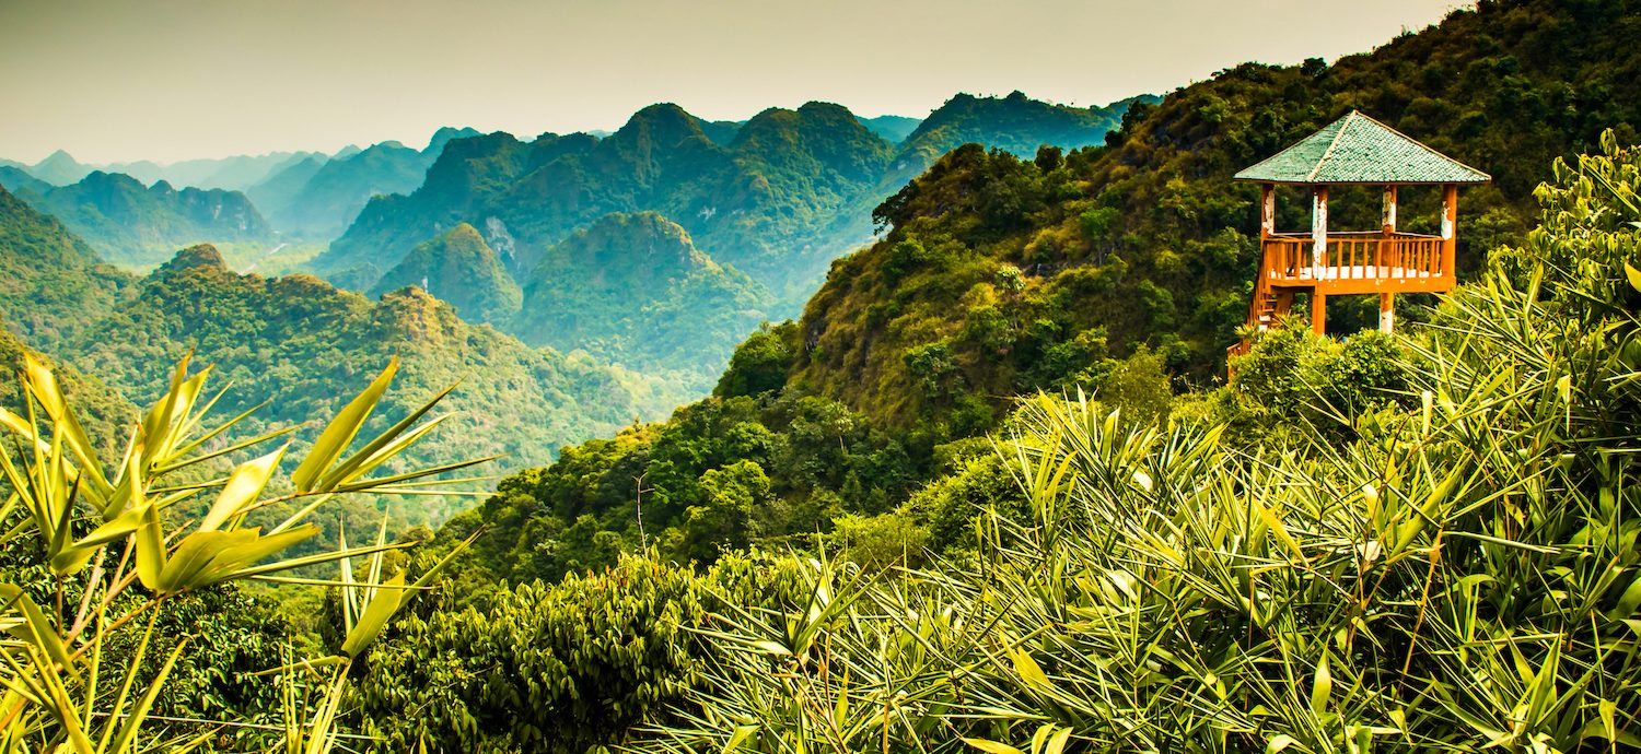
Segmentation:
{"type": "Polygon", "coordinates": [[[1485,184],[1492,175],[1355,110],[1236,174],[1272,184],[1485,184]]]}

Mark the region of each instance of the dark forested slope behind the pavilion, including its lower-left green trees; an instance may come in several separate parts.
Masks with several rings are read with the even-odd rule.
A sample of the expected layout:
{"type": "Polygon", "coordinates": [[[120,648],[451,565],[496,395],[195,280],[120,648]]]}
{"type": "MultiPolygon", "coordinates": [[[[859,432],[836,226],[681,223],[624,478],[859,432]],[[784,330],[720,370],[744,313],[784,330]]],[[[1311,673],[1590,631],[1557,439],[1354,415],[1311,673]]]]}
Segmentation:
{"type": "MultiPolygon", "coordinates": [[[[950,516],[1017,502],[990,446],[963,439],[996,428],[1017,397],[1083,388],[1155,420],[1177,388],[1221,379],[1257,254],[1259,192],[1231,182],[1237,169],[1352,108],[1374,113],[1493,174],[1460,195],[1460,272],[1474,270],[1487,249],[1526,234],[1533,188],[1556,157],[1598,151],[1603,126],[1618,143],[1641,141],[1641,54],[1625,43],[1641,31],[1634,10],[1485,3],[1334,66],[1226,70],[1134,107],[1108,146],[1034,159],[963,146],[876,210],[888,236],[834,264],[799,321],[735,351],[714,398],[504,482],[451,536],[504,523],[491,534],[497,549],[476,556],[491,574],[609,564],[619,547],[594,546],[594,534],[638,541],[624,485],[647,472],[650,536],[661,529],[678,557],[699,557],[712,538],[757,543],[816,526],[855,536],[860,516],[904,503],[937,474],[947,477],[875,536],[912,536],[898,528],[914,520],[929,543],[962,536],[950,516]],[[825,461],[791,456],[827,443],[825,461]],[[561,543],[556,556],[525,552],[542,538],[561,543]]],[[[1434,229],[1434,193],[1406,190],[1405,226],[1434,229]]],[[[1339,226],[1378,221],[1377,195],[1342,192],[1332,208],[1339,226]]],[[[1305,203],[1282,197],[1280,228],[1306,218],[1305,203]]],[[[1337,302],[1331,326],[1374,321],[1354,307],[1375,302],[1355,298],[1337,302]]],[[[1419,320],[1416,297],[1398,305],[1408,308],[1398,321],[1419,320]]],[[[1382,377],[1326,364],[1339,369],[1328,379],[1347,384],[1382,377]]],[[[1300,366],[1288,367],[1280,377],[1298,379],[1300,366]]],[[[1321,377],[1310,387],[1323,388],[1321,377]]],[[[1283,400],[1287,418],[1260,421],[1303,413],[1301,398],[1283,400]]]]}

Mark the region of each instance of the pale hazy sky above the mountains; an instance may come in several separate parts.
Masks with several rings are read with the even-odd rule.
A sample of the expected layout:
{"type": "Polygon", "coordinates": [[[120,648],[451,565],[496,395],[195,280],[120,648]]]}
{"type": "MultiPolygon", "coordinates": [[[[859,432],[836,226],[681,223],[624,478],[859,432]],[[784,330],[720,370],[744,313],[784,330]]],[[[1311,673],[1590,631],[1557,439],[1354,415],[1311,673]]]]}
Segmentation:
{"type": "Polygon", "coordinates": [[[333,151],[441,125],[614,129],[955,92],[1096,105],[1242,61],[1329,61],[1454,0],[0,0],[0,157],[333,151]]]}

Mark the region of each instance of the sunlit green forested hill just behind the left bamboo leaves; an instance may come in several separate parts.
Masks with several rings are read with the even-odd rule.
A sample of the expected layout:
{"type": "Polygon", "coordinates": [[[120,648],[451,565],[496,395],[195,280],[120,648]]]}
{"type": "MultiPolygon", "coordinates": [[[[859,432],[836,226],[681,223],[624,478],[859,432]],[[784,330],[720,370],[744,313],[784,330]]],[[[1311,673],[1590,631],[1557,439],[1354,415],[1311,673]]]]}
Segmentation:
{"type": "Polygon", "coordinates": [[[233,380],[225,416],[271,400],[253,428],[330,415],[366,380],[361,364],[394,356],[395,411],[461,382],[446,402],[453,426],[410,459],[423,464],[491,454],[504,454],[504,467],[540,464],[643,411],[625,374],[469,325],[420,290],[373,302],[312,275],[240,275],[210,246],[177,252],[133,300],[51,352],[146,405],[189,351],[233,380]]]}

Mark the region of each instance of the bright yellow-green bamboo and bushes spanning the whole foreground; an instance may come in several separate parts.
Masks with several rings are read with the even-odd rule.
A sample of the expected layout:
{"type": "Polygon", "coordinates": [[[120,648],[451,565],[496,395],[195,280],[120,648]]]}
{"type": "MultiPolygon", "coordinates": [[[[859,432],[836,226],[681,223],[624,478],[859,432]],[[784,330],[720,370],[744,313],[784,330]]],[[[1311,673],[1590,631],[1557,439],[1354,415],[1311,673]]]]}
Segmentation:
{"type": "MultiPolygon", "coordinates": [[[[970,466],[924,490],[973,495],[973,534],[960,551],[919,546],[875,562],[817,543],[725,552],[699,569],[650,549],[558,584],[501,582],[482,593],[469,570],[392,625],[386,616],[409,606],[394,595],[410,592],[377,587],[376,597],[338,600],[333,620],[345,621],[313,639],[330,659],[284,667],[282,682],[210,672],[245,667],[266,636],[236,634],[248,629],[240,621],[195,621],[194,631],[233,644],[174,651],[154,688],[176,688],[172,675],[200,685],[144,695],[126,718],[136,723],[103,729],[115,741],[143,724],[167,744],[282,739],[313,752],[340,736],[363,736],[346,738],[350,747],[464,752],[1641,746],[1641,151],[1608,134],[1600,154],[1557,162],[1536,193],[1539,226],[1393,338],[1341,344],[1282,329],[1241,357],[1231,385],[1168,398],[1163,413],[1139,420],[1083,395],[1021,402],[990,441],[990,469],[970,466]],[[1380,384],[1364,384],[1364,364],[1380,384]],[[983,484],[1012,492],[980,492],[983,484]],[[384,595],[384,608],[368,606],[384,595]],[[312,674],[317,684],[295,680],[312,674]],[[269,720],[282,708],[286,723],[199,734],[199,723],[156,713],[161,698],[182,718],[269,720]]],[[[49,408],[66,403],[30,374],[51,436],[74,438],[64,410],[49,408]]],[[[724,403],[735,398],[745,397],[724,403]]],[[[351,405],[330,428],[358,429],[351,405]]],[[[171,426],[195,426],[194,411],[171,426]]],[[[346,444],[351,431],[330,428],[346,444]]],[[[66,452],[62,439],[51,447],[66,452]]],[[[300,464],[297,490],[350,479],[340,446],[323,452],[331,461],[300,464]],[[310,466],[318,470],[304,472],[310,466]]],[[[236,520],[231,511],[267,482],[267,459],[277,466],[274,454],[235,472],[258,474],[256,488],[230,495],[233,484],[213,482],[228,508],[199,531],[184,528],[187,538],[236,520]]],[[[67,464],[36,456],[26,469],[51,484],[13,487],[28,490],[18,513],[39,531],[67,526],[41,508],[66,500],[67,464]]],[[[558,470],[553,484],[574,482],[558,470]]],[[[66,633],[53,616],[72,615],[75,602],[53,602],[49,585],[84,574],[92,552],[77,543],[153,526],[139,554],[176,547],[169,562],[181,564],[190,546],[166,546],[151,508],[133,508],[156,521],[138,523],[100,505],[97,531],[8,551],[46,549],[7,570],[39,574],[33,588],[5,590],[11,625],[25,626],[0,644],[20,661],[15,679],[90,688],[51,659],[75,641],[94,641],[92,657],[117,670],[151,667],[120,649],[113,628],[53,649],[49,636],[66,633]]],[[[395,562],[437,577],[450,556],[469,552],[435,546],[395,562]]],[[[359,579],[392,567],[374,559],[359,579]]],[[[236,598],[215,587],[213,570],[182,582],[177,569],[143,572],[143,590],[176,600],[138,606],[156,628],[135,647],[185,649],[159,616],[236,598]]],[[[348,585],[348,566],[341,574],[345,592],[366,588],[348,585]]],[[[62,706],[16,693],[5,703],[21,711],[7,723],[11,741],[74,738],[53,711],[62,706]]]]}

